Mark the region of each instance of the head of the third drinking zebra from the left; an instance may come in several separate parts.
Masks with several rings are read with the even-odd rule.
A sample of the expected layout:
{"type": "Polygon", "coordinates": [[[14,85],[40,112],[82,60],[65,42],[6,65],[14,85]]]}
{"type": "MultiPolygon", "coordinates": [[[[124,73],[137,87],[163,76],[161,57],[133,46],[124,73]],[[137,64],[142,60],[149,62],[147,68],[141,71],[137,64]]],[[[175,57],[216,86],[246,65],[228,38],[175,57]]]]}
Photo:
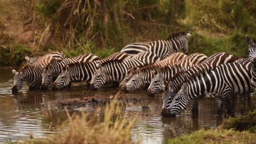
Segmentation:
{"type": "Polygon", "coordinates": [[[53,89],[62,89],[71,84],[71,69],[67,65],[53,83],[53,89]]]}

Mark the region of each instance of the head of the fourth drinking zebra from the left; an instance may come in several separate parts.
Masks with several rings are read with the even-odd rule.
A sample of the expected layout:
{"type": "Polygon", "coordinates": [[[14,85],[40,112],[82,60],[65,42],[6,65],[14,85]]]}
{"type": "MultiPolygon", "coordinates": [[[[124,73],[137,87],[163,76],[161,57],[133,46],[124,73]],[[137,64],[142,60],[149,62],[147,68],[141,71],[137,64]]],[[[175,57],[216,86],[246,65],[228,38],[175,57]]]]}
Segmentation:
{"type": "Polygon", "coordinates": [[[100,63],[97,64],[97,70],[95,74],[92,76],[91,85],[90,87],[92,89],[100,88],[106,83],[107,76],[106,76],[106,70],[100,63]]]}

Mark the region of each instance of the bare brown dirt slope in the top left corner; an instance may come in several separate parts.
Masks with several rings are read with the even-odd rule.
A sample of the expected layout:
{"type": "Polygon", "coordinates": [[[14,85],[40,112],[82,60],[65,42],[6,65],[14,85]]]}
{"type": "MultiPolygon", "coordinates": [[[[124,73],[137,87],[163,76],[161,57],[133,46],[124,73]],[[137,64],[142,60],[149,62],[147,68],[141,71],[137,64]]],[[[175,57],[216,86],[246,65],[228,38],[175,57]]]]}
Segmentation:
{"type": "Polygon", "coordinates": [[[8,38],[8,41],[0,41],[0,45],[19,43],[33,47],[39,44],[43,23],[38,21],[38,14],[30,11],[30,8],[22,7],[21,1],[0,3],[0,34],[8,38]]]}

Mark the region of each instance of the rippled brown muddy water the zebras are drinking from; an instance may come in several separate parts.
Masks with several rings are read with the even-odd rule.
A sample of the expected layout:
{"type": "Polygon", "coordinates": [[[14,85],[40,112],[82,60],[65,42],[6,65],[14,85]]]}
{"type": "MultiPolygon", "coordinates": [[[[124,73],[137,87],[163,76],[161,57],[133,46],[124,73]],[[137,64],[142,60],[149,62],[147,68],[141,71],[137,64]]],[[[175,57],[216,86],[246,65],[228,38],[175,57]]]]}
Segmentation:
{"type": "MultiPolygon", "coordinates": [[[[91,91],[83,83],[75,83],[71,89],[63,91],[28,91],[27,86],[18,93],[11,93],[13,74],[10,68],[0,68],[0,143],[6,141],[28,139],[33,137],[52,136],[59,133],[59,125],[67,119],[66,112],[59,109],[46,109],[45,105],[51,100],[67,98],[94,97],[96,95],[114,95],[117,89],[104,88],[91,91]]],[[[199,101],[199,116],[193,117],[190,112],[191,104],[182,115],[176,118],[161,117],[161,97],[149,98],[146,89],[132,93],[122,93],[122,97],[145,98],[146,101],[126,101],[124,113],[127,118],[138,116],[132,126],[132,140],[141,143],[164,143],[166,139],[188,134],[201,128],[216,128],[225,113],[218,113],[213,98],[202,98],[199,101]],[[149,109],[142,109],[148,105],[149,109]]],[[[90,113],[96,121],[101,121],[104,106],[91,107],[90,113]]],[[[256,108],[256,100],[242,99],[237,101],[236,115],[245,115],[256,108]]],[[[71,110],[70,112],[74,112],[71,110]]],[[[78,111],[77,111],[78,112],[78,111]]]]}

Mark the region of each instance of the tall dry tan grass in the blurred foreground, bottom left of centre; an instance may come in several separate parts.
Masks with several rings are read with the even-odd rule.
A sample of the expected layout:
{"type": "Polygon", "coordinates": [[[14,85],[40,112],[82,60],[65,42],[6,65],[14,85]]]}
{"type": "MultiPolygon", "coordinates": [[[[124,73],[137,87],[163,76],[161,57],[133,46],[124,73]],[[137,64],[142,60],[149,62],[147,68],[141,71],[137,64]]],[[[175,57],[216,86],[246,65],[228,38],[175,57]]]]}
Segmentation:
{"type": "Polygon", "coordinates": [[[22,143],[133,143],[131,126],[135,118],[125,119],[121,107],[120,103],[113,101],[107,104],[103,122],[92,121],[93,118],[85,112],[82,115],[68,114],[68,130],[63,134],[22,143]]]}

